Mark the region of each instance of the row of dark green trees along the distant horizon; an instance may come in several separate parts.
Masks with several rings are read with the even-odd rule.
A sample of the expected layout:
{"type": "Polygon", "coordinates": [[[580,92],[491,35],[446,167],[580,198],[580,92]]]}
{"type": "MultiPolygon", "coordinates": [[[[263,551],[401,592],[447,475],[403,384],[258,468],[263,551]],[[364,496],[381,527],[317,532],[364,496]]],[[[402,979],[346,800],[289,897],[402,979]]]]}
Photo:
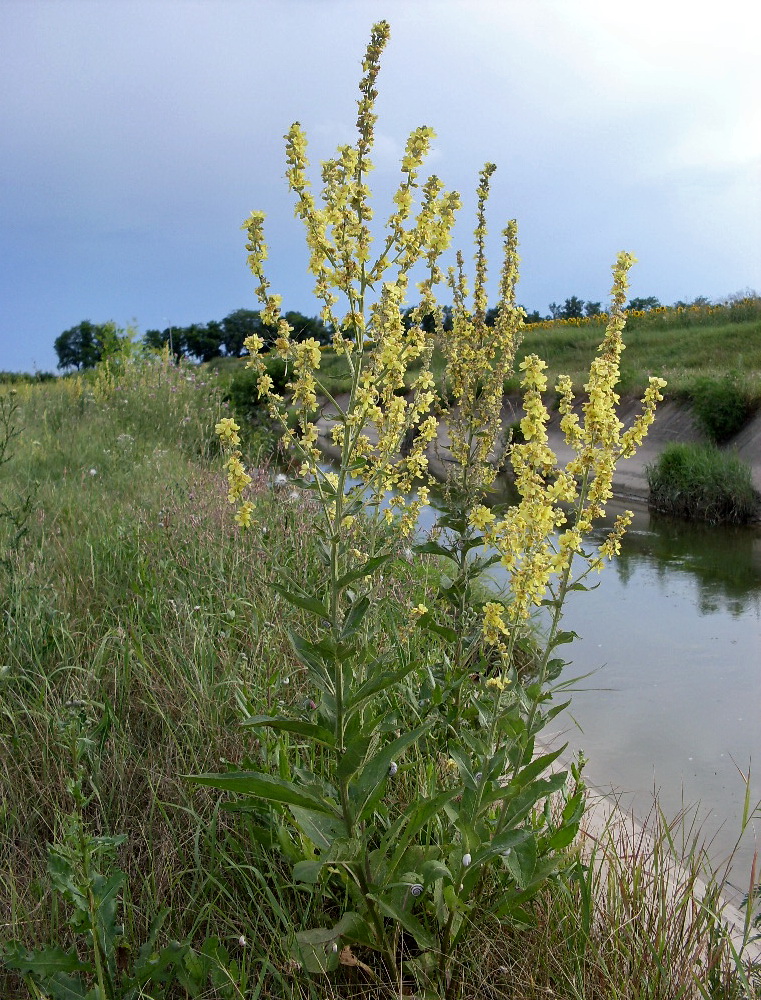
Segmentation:
{"type": "MultiPolygon", "coordinates": [[[[697,301],[692,304],[697,304],[697,301]]],[[[701,303],[707,303],[707,299],[701,303]]],[[[677,303],[677,305],[684,303],[677,303]]],[[[654,309],[660,302],[654,296],[635,298],[628,304],[628,309],[654,309]]],[[[586,302],[572,295],[560,305],[550,303],[550,315],[543,316],[536,310],[526,313],[527,323],[540,323],[550,319],[577,319],[582,316],[596,316],[602,311],[602,303],[586,302]]],[[[412,324],[413,309],[404,311],[403,321],[409,328],[412,324]]],[[[320,344],[330,343],[333,329],[315,316],[305,316],[300,312],[284,314],[293,327],[295,340],[314,338],[320,344]]],[[[497,316],[497,309],[489,309],[486,313],[486,323],[491,326],[497,316]]],[[[430,323],[426,318],[424,326],[430,323]]],[[[443,308],[444,329],[452,329],[452,309],[443,308]]],[[[146,330],[140,343],[152,350],[163,350],[168,347],[174,357],[189,358],[193,361],[213,361],[221,357],[241,357],[246,353],[244,342],[247,337],[256,334],[264,341],[265,349],[271,346],[277,336],[273,326],[262,320],[257,309],[235,309],[222,320],[210,320],[208,323],[192,323],[190,326],[169,326],[164,330],[146,330]]],[[[103,358],[112,357],[124,350],[126,345],[134,344],[134,334],[117,327],[113,322],[91,323],[83,320],[69,330],[64,330],[56,337],[53,344],[58,355],[58,368],[75,368],[82,370],[94,368],[103,358]]]]}

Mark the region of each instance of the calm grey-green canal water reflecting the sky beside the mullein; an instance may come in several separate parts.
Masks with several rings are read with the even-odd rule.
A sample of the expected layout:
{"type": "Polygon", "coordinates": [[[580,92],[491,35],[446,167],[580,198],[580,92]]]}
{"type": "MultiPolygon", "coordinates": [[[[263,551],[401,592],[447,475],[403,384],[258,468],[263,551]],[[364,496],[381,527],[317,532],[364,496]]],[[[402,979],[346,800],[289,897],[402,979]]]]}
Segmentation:
{"type": "MultiPolygon", "coordinates": [[[[610,505],[608,526],[632,504],[610,505]]],[[[424,511],[421,532],[435,511],[424,511]]],[[[602,541],[606,525],[597,530],[602,541]]],[[[492,570],[500,582],[499,567],[492,570]]],[[[736,845],[745,782],[761,800],[761,529],[709,527],[635,511],[620,557],[596,589],[573,592],[564,677],[586,676],[552,736],[583,749],[587,779],[646,817],[654,793],[683,811],[720,866],[736,845]],[[755,768],[755,770],[754,770],[755,768]]],[[[756,814],[735,854],[742,894],[756,814]]],[[[760,850],[761,853],[761,850],[760,850]]]]}

